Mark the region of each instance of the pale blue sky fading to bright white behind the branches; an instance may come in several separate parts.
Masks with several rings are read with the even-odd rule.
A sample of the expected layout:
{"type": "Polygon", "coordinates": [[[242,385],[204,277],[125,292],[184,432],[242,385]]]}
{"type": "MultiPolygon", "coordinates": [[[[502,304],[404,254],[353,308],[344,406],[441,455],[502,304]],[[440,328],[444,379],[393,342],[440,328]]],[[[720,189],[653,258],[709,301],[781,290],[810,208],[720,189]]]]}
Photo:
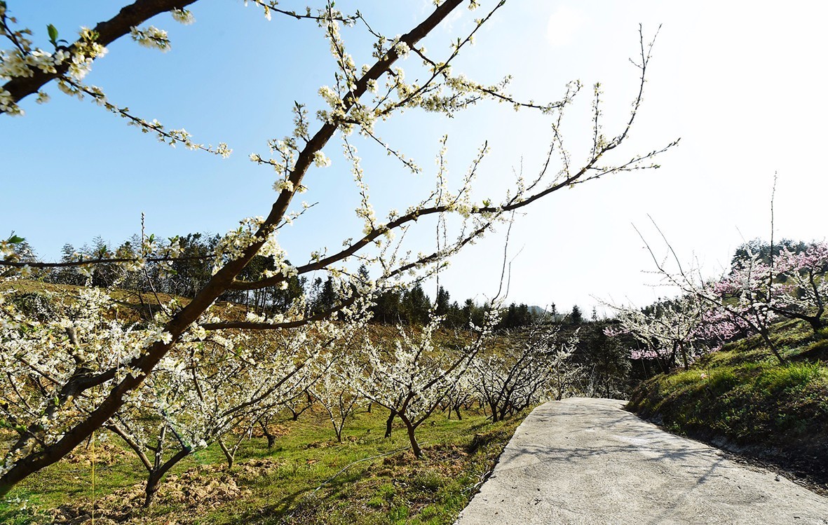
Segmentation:
{"type": "MultiPolygon", "coordinates": [[[[74,36],[79,26],[111,17],[117,2],[7,3],[43,42],[46,24],[55,24],[62,37],[74,36]]],[[[482,3],[485,9],[492,2],[482,3]]],[[[358,6],[390,36],[419,22],[430,4],[337,2],[345,12],[358,6]]],[[[280,5],[301,9],[304,4],[280,5]]],[[[659,171],[566,190],[518,217],[509,247],[516,256],[510,299],[556,302],[568,309],[589,308],[593,296],[645,304],[665,295],[649,286],[657,280],[642,272],[652,269],[652,262],[631,225],[643,229],[659,255],[665,253],[647,227],[647,214],[682,258],[696,257],[705,271],[715,273],[743,240],[768,237],[775,171],[777,238],[825,237],[828,183],[819,160],[828,138],[828,104],[821,97],[828,44],[821,21],[828,13],[822,2],[781,5],[510,0],[498,12],[455,70],[484,83],[511,74],[513,92],[536,100],[559,98],[571,79],[587,86],[600,81],[608,134],[622,125],[637,88],[638,71],[628,58],[638,50],[638,23],[648,36],[662,24],[644,106],[619,158],[681,137],[681,146],[660,160],[659,171]]],[[[0,116],[0,234],[15,230],[41,256],[56,258],[63,243],[80,245],[95,235],[119,243],[139,231],[142,212],[147,230],[162,236],[224,233],[239,219],[267,214],[275,198],[272,173],[254,166],[248,155],[263,154],[268,138],[291,132],[294,100],[308,104],[311,113],[320,107],[317,89],[333,83],[327,46],[313,23],[277,16],[267,22],[260,9],[243,7],[240,0],[201,0],[192,11],[191,26],[166,14],[152,21],[169,31],[171,51],[118,41],[87,80],[144,118],[184,127],[200,142],[228,142],[233,156],[223,160],[165,146],[89,101],[69,99],[51,87],[49,104],[27,100],[24,117],[0,116]]],[[[447,49],[471,18],[480,16],[461,11],[429,37],[429,51],[447,49]]],[[[368,62],[368,41],[358,33],[344,36],[357,62],[368,62]]],[[[589,108],[589,97],[582,96],[566,120],[575,158],[585,147],[589,108]]],[[[498,104],[451,120],[407,112],[378,132],[426,168],[411,176],[378,148],[358,143],[380,215],[405,208],[431,187],[443,133],[450,136],[455,181],[476,148],[489,141],[481,198],[508,188],[516,166],[531,175],[549,138],[542,118],[498,104]]],[[[335,248],[361,230],[338,142],[325,152],[334,165],[311,172],[310,191],[302,196],[320,204],[280,235],[294,262],[320,247],[335,248]]],[[[454,298],[482,300],[496,291],[503,231],[469,248],[442,274],[454,298]]],[[[431,238],[433,231],[424,227],[411,240],[419,249],[428,248],[431,238]]]]}

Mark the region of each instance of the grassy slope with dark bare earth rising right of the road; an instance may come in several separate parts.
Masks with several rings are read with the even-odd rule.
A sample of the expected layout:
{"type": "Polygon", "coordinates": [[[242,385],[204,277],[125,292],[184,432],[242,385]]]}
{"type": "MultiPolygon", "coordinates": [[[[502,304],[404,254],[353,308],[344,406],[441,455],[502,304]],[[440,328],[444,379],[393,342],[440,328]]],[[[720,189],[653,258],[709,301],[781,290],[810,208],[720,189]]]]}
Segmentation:
{"type": "Polygon", "coordinates": [[[828,333],[777,325],[780,365],[758,337],[641,384],[628,410],[668,430],[758,457],[828,489],[828,333]]]}

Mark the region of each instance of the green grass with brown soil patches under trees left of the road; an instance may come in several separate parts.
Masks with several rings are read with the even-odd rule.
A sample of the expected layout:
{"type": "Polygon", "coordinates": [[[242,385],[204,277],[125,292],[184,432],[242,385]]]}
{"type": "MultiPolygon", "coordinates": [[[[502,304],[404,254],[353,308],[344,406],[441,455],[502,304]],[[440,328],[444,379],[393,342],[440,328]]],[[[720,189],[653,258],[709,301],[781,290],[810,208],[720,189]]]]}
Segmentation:
{"type": "Polygon", "coordinates": [[[142,466],[113,436],[110,445],[96,446],[94,494],[92,450],[86,448],[14,489],[11,499],[27,501],[27,508],[0,506],[0,523],[89,515],[93,503],[96,522],[453,523],[522,420],[493,424],[479,414],[465,414],[462,421],[432,417],[418,430],[426,457],[417,460],[402,428],[383,439],[384,411],[356,414],[344,443],[335,440],[322,414],[306,415],[282,421],[284,435],[271,450],[263,438],[245,441],[230,472],[217,446],[186,458],[167,475],[146,511],[137,508],[142,466]]]}

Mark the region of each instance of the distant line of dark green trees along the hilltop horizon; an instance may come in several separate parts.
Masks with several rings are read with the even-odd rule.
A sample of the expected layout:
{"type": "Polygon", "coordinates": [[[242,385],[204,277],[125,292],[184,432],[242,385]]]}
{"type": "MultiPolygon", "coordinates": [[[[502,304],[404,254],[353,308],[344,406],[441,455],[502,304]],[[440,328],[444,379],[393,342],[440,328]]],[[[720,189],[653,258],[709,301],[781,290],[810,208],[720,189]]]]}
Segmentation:
{"type": "MultiPolygon", "coordinates": [[[[219,243],[219,235],[187,234],[178,238],[181,254],[164,270],[156,265],[147,265],[139,271],[128,271],[123,266],[113,263],[99,263],[90,267],[91,275],[84,275],[78,267],[55,267],[36,269],[32,277],[55,284],[83,285],[88,280],[96,287],[118,286],[123,289],[141,292],[165,293],[173,296],[192,297],[209,281],[212,276],[212,254],[219,243]]],[[[141,239],[137,236],[113,248],[103,238],[96,237],[91,243],[75,247],[67,243],[61,249],[60,262],[77,262],[79,259],[96,260],[137,253],[141,239]]],[[[36,262],[36,253],[26,243],[17,245],[17,255],[22,262],[36,262]]],[[[261,279],[265,272],[275,269],[272,258],[256,256],[238,276],[244,281],[261,279]]],[[[367,269],[360,268],[363,277],[368,277],[367,269]]],[[[291,277],[287,287],[267,287],[250,291],[227,291],[219,297],[220,301],[230,301],[246,306],[249,311],[258,314],[276,314],[286,311],[293,301],[304,297],[309,314],[329,311],[339,304],[339,297],[331,277],[291,277]]],[[[432,307],[438,315],[445,316],[444,325],[449,328],[463,328],[473,322],[482,325],[484,311],[488,304],[477,304],[473,299],[451,301],[449,291],[439,287],[435,299],[423,290],[421,283],[409,287],[400,287],[383,291],[376,298],[373,306],[373,321],[382,324],[425,325],[432,307]]],[[[548,309],[526,304],[512,303],[504,309],[500,329],[515,329],[533,323],[546,316],[555,321],[580,324],[583,321],[577,306],[568,315],[560,315],[554,304],[548,309]]]]}

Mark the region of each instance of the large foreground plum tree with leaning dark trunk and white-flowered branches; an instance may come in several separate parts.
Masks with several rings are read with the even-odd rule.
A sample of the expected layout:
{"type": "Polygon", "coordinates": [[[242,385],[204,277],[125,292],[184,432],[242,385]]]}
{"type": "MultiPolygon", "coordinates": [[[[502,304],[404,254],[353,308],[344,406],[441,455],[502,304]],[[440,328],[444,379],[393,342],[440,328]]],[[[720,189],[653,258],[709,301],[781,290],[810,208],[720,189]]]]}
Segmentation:
{"type": "MultiPolygon", "coordinates": [[[[161,123],[137,117],[123,106],[111,102],[103,89],[84,84],[84,75],[94,60],[103,55],[106,46],[118,38],[130,36],[144,46],[161,51],[168,49],[170,42],[165,31],[142,24],[161,12],[172,12],[179,22],[192,22],[192,16],[185,11],[185,7],[194,2],[195,0],[136,0],[108,21],[100,22],[92,29],[82,29],[79,38],[71,43],[60,39],[55,27],[50,26],[47,31],[49,46],[37,46],[33,32],[18,26],[17,20],[9,12],[7,2],[0,2],[0,37],[11,44],[10,49],[0,52],[0,82],[4,82],[0,86],[0,112],[22,113],[19,104],[21,100],[35,94],[44,102],[46,95],[41,88],[49,82],[55,82],[63,92],[79,98],[89,97],[108,111],[127,119],[142,132],[156,134],[163,142],[173,145],[183,143],[186,147],[220,156],[228,155],[229,148],[223,143],[214,147],[195,142],[183,128],[167,129],[161,123]]],[[[370,296],[377,287],[398,281],[410,272],[427,273],[440,267],[446,258],[457,253],[460,248],[484,235],[494,225],[508,220],[510,212],[563,188],[618,172],[657,167],[653,158],[676,143],[671,142],[666,147],[643,154],[624,152],[618,162],[610,159],[611,153],[622,151],[620,147],[628,137],[642,101],[652,47],[652,44],[647,46],[643,36],[638,62],[634,62],[640,72],[640,84],[629,118],[620,126],[618,134],[604,134],[600,118],[600,89],[596,84],[592,95],[593,118],[590,119],[592,144],[582,160],[576,161],[565,148],[561,115],[573,103],[575,95],[580,91],[580,84],[569,84],[559,101],[535,104],[513,98],[506,90],[506,81],[484,85],[463,75],[455,75],[451,70],[451,65],[460,52],[471,44],[480,28],[503,7],[505,2],[502,0],[490,4],[480,0],[436,0],[433,11],[425,19],[402,36],[393,37],[375,31],[362,13],[349,16],[337,11],[331,1],[322,2],[318,9],[309,7],[306,12],[282,10],[274,1],[253,2],[262,8],[267,17],[275,13],[308,20],[320,26],[335,59],[330,86],[319,90],[328,108],[318,112],[314,121],[305,105],[291,104],[294,108],[292,132],[281,140],[269,141],[270,151],[267,154],[250,155],[251,161],[275,173],[273,188],[277,197],[266,216],[241,220],[238,229],[233,229],[219,242],[214,253],[214,275],[195,294],[192,301],[186,305],[171,306],[164,320],[151,329],[109,329],[114,333],[100,342],[100,348],[96,352],[87,349],[84,349],[83,355],[70,352],[70,356],[78,356],[78,359],[63,359],[59,365],[55,364],[55,367],[63,368],[53,369],[51,364],[46,366],[44,361],[41,368],[38,368],[43,382],[39,384],[48,383],[47,390],[57,393],[46,406],[42,405],[39,398],[35,404],[30,403],[26,407],[28,391],[36,388],[36,385],[14,383],[13,387],[20,390],[20,393],[4,402],[9,405],[22,403],[21,407],[10,409],[17,419],[7,424],[16,429],[19,439],[10,449],[5,450],[0,468],[0,494],[5,494],[27,475],[60,460],[89,438],[96,429],[111,421],[132,393],[142,388],[142,383],[162,359],[177,344],[185,343],[188,338],[198,340],[205,331],[212,330],[296,330],[302,325],[325,323],[334,315],[356,318],[356,313],[361,311],[361,307],[357,306],[359,297],[370,296]],[[477,19],[473,28],[460,36],[445,55],[429,54],[419,42],[463,4],[470,9],[489,5],[488,12],[477,19]],[[357,65],[340,32],[344,24],[361,24],[373,38],[373,64],[357,65]],[[405,71],[399,66],[403,60],[408,60],[412,68],[419,68],[421,81],[406,80],[405,71]],[[404,169],[421,171],[414,161],[378,136],[377,129],[383,121],[394,113],[414,108],[451,115],[484,100],[506,103],[517,109],[538,111],[550,118],[551,147],[537,176],[526,181],[518,179],[514,189],[500,198],[475,201],[471,183],[482,171],[481,161],[487,152],[484,147],[474,157],[459,187],[454,190],[450,188],[445,169],[441,167],[436,176],[436,188],[430,195],[412,201],[412,205],[402,212],[392,211],[387,218],[378,218],[369,196],[353,134],[358,133],[380,144],[400,161],[404,169]],[[308,175],[330,164],[322,149],[334,137],[342,142],[344,160],[351,166],[354,176],[360,200],[355,213],[363,222],[362,231],[347,240],[342,248],[311,253],[307,262],[294,266],[287,262],[286,251],[277,242],[277,234],[284,224],[297,219],[306,209],[303,206],[291,211],[291,205],[294,204],[296,195],[306,190],[306,184],[310,183],[312,178],[308,175]],[[556,163],[556,160],[560,161],[556,163]],[[455,237],[445,236],[445,242],[440,243],[431,253],[409,253],[403,247],[402,239],[393,239],[395,231],[412,227],[422,217],[442,219],[447,215],[457,218],[455,237]],[[272,258],[274,269],[255,281],[239,278],[243,269],[257,255],[272,258]],[[355,266],[356,260],[373,267],[373,281],[365,282],[349,272],[349,267],[355,266]],[[219,315],[213,307],[214,301],[225,291],[284,287],[297,275],[317,271],[328,272],[339,283],[337,286],[342,293],[339,302],[331,310],[316,312],[314,315],[294,311],[251,320],[211,319],[219,315]],[[123,351],[115,353],[112,351],[114,348],[123,351]],[[118,359],[103,359],[116,354],[118,359]],[[89,359],[84,358],[85,355],[89,355],[89,359]],[[94,366],[89,366],[88,361],[94,362],[94,366]],[[67,417],[66,414],[72,414],[72,417],[67,417]]],[[[441,157],[443,155],[445,152],[440,153],[441,157]]],[[[147,239],[144,240],[146,242],[147,239]]],[[[98,260],[24,262],[14,257],[13,246],[20,242],[21,238],[12,236],[0,243],[0,265],[17,268],[24,275],[33,267],[75,266],[89,271],[91,265],[96,263],[117,262],[140,268],[147,264],[165,264],[177,255],[176,243],[171,243],[166,247],[169,248],[166,253],[154,253],[153,249],[144,248],[137,255],[124,254],[125,257],[105,254],[106,257],[98,260]]],[[[294,261],[300,259],[291,257],[294,261]]],[[[20,312],[14,309],[4,311],[2,320],[3,341],[0,352],[3,355],[0,359],[12,363],[15,359],[10,357],[10,353],[15,347],[7,341],[30,337],[31,330],[37,332],[41,327],[22,318],[20,312]]],[[[55,322],[60,325],[63,320],[55,322]]],[[[47,339],[59,339],[59,326],[51,326],[43,334],[47,339]]],[[[61,344],[65,346],[65,341],[61,344]]],[[[51,359],[46,355],[42,357],[51,359]]],[[[19,359],[17,361],[15,366],[21,365],[19,359]]],[[[24,374],[23,377],[29,376],[24,374]]],[[[13,390],[4,389],[3,392],[5,395],[13,390]]]]}

